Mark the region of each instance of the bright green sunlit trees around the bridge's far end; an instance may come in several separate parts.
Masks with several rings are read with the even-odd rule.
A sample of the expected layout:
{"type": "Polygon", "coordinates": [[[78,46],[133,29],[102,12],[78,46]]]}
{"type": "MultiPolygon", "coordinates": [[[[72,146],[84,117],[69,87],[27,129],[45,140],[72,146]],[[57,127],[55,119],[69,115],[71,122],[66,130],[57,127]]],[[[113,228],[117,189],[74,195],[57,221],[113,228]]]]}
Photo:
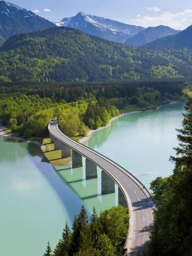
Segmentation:
{"type": "Polygon", "coordinates": [[[47,135],[49,121],[58,116],[59,125],[69,136],[85,136],[88,127],[97,129],[108,124],[112,116],[119,113],[109,101],[57,103],[39,95],[20,94],[18,97],[0,98],[0,116],[4,125],[24,137],[47,135]]]}

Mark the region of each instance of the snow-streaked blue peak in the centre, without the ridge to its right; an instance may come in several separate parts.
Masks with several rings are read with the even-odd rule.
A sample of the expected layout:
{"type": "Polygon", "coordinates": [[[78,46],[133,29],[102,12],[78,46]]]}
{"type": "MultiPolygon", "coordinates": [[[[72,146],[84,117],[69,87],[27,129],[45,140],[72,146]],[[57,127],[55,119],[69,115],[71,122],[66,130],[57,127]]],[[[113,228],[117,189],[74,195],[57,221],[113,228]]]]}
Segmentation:
{"type": "Polygon", "coordinates": [[[102,18],[79,12],[76,16],[63,18],[57,26],[76,28],[92,36],[98,36],[110,41],[124,42],[126,39],[136,35],[143,27],[127,25],[115,20],[102,18]]]}

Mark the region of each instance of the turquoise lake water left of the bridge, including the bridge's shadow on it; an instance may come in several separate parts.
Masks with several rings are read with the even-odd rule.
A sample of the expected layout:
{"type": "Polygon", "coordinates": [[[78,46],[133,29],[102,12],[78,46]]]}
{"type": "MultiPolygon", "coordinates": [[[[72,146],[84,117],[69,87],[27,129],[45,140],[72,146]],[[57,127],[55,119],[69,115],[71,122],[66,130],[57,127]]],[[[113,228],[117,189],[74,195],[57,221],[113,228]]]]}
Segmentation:
{"type": "Polygon", "coordinates": [[[115,193],[101,196],[101,170],[86,181],[83,168],[57,168],[42,162],[37,146],[0,137],[0,255],[40,256],[47,241],[55,248],[82,204],[88,215],[93,206],[99,212],[117,204],[115,193]]]}

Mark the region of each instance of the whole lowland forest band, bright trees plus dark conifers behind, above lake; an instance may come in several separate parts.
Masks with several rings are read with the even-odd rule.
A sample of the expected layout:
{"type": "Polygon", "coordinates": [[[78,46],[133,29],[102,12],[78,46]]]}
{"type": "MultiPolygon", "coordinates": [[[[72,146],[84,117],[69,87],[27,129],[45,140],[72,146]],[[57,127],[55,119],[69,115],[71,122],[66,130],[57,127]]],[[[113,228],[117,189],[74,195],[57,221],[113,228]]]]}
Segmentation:
{"type": "Polygon", "coordinates": [[[108,124],[119,110],[147,110],[186,99],[190,83],[175,81],[106,86],[0,86],[0,118],[24,137],[46,136],[48,122],[58,116],[60,129],[69,136],[85,136],[88,129],[108,124]]]}

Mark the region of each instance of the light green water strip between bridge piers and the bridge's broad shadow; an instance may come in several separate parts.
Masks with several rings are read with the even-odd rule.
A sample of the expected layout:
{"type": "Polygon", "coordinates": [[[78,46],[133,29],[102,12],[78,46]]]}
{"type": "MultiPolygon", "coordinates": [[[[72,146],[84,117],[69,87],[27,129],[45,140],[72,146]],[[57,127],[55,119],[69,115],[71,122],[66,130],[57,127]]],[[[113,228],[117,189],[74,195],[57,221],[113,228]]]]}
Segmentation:
{"type": "Polygon", "coordinates": [[[81,167],[72,168],[71,165],[54,165],[54,167],[59,176],[65,180],[66,184],[81,198],[83,204],[91,212],[93,207],[100,212],[100,210],[116,205],[115,193],[101,194],[101,169],[95,166],[97,171],[95,175],[94,164],[91,166],[89,163],[86,168],[86,162],[89,163],[87,159],[82,157],[81,167]]]}

